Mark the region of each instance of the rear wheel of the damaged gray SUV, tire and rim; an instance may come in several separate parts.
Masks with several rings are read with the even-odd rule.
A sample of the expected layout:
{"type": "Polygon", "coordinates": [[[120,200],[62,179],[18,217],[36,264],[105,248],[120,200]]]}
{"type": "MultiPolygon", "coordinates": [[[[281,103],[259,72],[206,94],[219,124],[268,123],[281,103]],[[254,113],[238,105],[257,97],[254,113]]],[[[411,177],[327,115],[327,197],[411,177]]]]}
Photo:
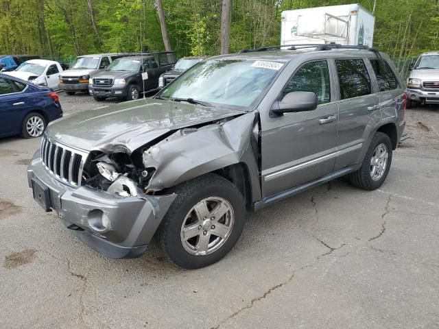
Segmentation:
{"type": "Polygon", "coordinates": [[[392,164],[392,142],[388,135],[376,132],[369,145],[360,169],[348,175],[351,184],[372,191],[379,188],[387,177],[392,164]],[[383,151],[381,153],[381,151],[383,151]],[[385,151],[385,152],[384,152],[385,151]],[[374,158],[375,165],[372,165],[374,158]],[[385,160],[385,164],[383,163],[385,160]],[[375,167],[375,172],[373,168],[375,167]]]}

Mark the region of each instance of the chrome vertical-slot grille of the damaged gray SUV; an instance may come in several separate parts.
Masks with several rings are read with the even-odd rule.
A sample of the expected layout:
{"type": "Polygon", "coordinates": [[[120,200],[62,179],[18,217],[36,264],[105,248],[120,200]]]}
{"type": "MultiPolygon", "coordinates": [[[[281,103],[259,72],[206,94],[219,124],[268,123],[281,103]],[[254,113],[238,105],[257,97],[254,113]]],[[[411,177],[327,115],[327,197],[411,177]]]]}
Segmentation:
{"type": "Polygon", "coordinates": [[[86,157],[86,153],[51,142],[47,136],[41,141],[41,159],[46,169],[58,180],[71,186],[81,184],[86,157]]]}

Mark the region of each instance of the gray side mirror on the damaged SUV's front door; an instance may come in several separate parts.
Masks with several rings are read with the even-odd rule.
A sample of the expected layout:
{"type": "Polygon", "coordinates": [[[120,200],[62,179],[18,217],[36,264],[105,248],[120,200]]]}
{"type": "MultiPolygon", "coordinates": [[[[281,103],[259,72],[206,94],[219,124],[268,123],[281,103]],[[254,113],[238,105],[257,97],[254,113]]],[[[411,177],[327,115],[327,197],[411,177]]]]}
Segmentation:
{"type": "Polygon", "coordinates": [[[281,101],[276,101],[271,112],[283,114],[289,112],[304,112],[316,110],[318,106],[318,98],[315,93],[309,91],[293,91],[287,93],[281,101]]]}

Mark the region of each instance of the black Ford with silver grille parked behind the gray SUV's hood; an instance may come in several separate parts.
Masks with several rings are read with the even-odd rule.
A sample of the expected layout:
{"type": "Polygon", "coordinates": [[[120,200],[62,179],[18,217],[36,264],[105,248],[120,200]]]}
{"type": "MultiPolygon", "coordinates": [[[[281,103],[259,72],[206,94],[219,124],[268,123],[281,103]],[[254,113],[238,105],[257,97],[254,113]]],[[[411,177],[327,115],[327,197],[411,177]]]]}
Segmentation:
{"type": "Polygon", "coordinates": [[[88,91],[97,101],[107,97],[138,99],[141,93],[158,87],[158,77],[174,66],[174,51],[157,51],[118,58],[95,75],[88,91]]]}

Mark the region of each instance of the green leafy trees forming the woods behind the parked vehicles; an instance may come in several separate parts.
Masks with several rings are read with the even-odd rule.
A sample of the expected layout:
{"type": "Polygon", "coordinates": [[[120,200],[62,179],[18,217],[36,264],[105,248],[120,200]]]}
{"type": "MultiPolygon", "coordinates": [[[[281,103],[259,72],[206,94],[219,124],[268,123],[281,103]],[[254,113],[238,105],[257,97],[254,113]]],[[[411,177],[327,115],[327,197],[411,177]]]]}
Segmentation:
{"type": "MultiPolygon", "coordinates": [[[[0,53],[60,58],[101,51],[163,49],[156,0],[0,0],[0,53]],[[91,5],[91,7],[90,7],[91,5]],[[95,25],[93,25],[93,18],[95,25]]],[[[230,51],[277,45],[281,12],[352,0],[233,0],[230,51]]],[[[439,48],[436,0],[360,0],[372,11],[374,45],[392,58],[439,48]]],[[[221,0],[163,0],[178,56],[220,49],[221,0]]],[[[405,69],[406,60],[399,60],[405,69]]]]}

